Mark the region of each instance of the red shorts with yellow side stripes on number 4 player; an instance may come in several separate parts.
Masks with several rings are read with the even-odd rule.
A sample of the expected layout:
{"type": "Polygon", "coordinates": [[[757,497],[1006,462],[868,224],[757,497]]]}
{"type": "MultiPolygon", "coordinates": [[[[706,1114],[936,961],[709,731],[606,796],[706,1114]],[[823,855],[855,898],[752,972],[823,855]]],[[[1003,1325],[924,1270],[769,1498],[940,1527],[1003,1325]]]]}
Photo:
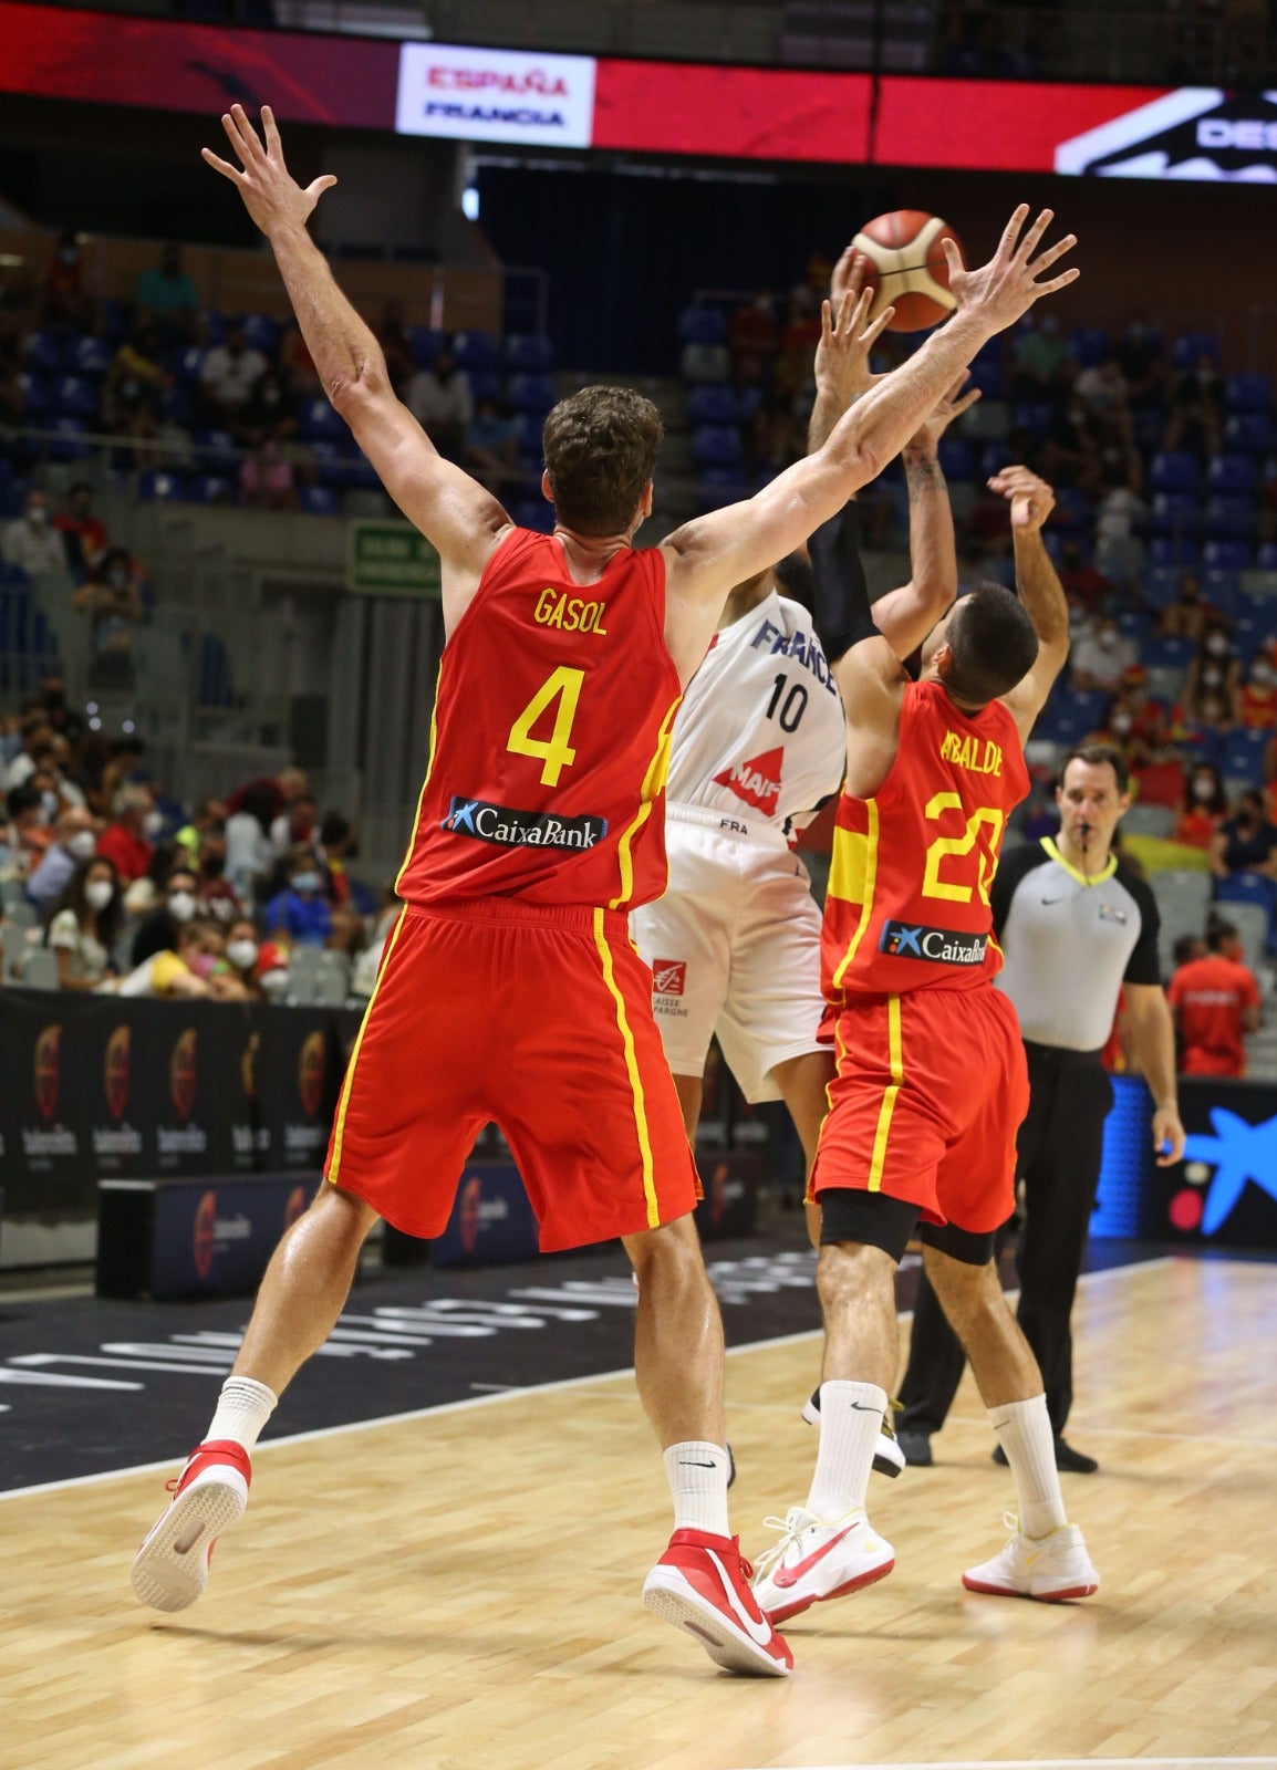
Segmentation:
{"type": "Polygon", "coordinates": [[[400,915],[324,1172],[395,1228],[439,1235],[489,1122],[510,1145],[546,1251],[694,1207],[652,972],[625,915],[508,897],[400,915]]]}

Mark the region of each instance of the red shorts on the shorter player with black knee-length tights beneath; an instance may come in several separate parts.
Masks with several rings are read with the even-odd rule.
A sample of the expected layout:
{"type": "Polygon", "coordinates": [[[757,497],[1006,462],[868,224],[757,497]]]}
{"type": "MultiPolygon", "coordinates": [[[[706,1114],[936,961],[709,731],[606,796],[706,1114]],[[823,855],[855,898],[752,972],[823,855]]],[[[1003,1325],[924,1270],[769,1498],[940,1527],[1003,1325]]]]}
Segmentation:
{"type": "Polygon", "coordinates": [[[838,1073],[811,1191],[886,1193],[972,1234],[1015,1207],[1015,1133],[1029,1110],[1020,1023],[992,984],[866,995],[832,1011],[838,1073]]]}

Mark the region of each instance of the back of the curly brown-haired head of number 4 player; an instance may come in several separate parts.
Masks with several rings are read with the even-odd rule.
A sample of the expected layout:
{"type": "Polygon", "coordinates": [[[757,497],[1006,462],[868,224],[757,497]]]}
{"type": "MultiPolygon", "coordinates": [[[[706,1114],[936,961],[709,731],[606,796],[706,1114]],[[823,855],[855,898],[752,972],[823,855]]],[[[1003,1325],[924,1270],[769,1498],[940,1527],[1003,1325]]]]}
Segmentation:
{"type": "Polygon", "coordinates": [[[652,478],[664,427],[632,388],[581,388],[542,427],[558,520],[579,535],[620,535],[652,478]]]}

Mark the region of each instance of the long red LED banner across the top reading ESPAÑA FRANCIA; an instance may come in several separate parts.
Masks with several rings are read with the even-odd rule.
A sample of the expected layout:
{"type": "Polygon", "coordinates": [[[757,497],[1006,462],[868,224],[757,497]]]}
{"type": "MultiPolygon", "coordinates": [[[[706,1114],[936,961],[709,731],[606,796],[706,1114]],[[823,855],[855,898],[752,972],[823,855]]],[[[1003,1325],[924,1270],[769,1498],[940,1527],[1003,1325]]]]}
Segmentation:
{"type": "Polygon", "coordinates": [[[0,92],[569,150],[1277,182],[1277,94],[641,62],[0,0],[0,92]]]}

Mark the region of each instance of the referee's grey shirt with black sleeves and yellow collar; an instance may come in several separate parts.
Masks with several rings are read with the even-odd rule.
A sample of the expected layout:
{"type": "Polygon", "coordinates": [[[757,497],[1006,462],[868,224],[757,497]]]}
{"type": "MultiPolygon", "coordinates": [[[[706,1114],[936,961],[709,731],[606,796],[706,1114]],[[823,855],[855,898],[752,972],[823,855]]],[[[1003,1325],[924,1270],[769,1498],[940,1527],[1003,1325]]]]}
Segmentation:
{"type": "Polygon", "coordinates": [[[1162,982],[1157,899],[1116,855],[1087,878],[1043,835],[1002,857],[990,903],[1006,959],[995,982],[1031,1044],[1098,1051],[1121,986],[1162,982]]]}

